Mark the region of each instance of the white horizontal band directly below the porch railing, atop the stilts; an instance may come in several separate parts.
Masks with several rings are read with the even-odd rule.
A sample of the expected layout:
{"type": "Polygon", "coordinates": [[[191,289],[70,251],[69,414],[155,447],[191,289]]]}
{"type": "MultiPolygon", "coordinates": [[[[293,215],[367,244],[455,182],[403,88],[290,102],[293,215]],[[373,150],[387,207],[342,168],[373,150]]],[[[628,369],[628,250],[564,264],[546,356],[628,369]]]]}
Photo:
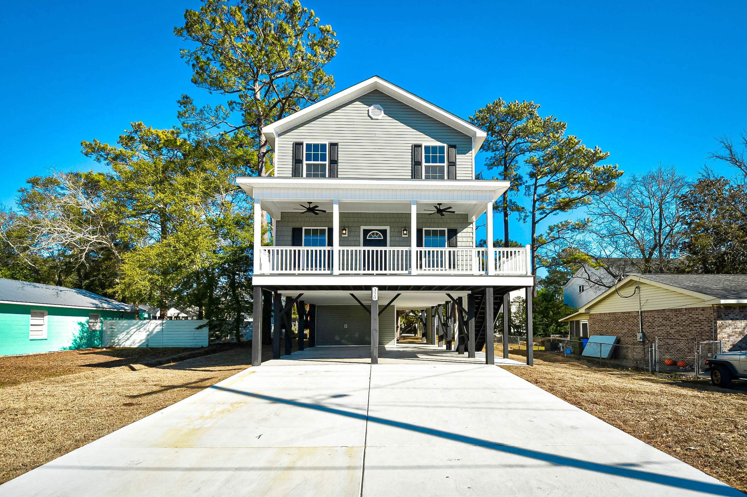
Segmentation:
{"type": "MultiPolygon", "coordinates": [[[[533,276],[504,275],[253,275],[252,284],[273,287],[385,285],[445,287],[533,287],[533,276]]],[[[427,290],[427,289],[424,289],[427,290]]]]}

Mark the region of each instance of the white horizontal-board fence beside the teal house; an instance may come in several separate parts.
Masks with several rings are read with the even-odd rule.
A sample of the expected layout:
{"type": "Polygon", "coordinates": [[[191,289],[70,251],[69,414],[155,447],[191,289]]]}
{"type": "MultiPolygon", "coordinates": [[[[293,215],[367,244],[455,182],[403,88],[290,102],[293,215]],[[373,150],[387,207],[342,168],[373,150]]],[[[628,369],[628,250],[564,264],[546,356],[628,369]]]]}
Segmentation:
{"type": "Polygon", "coordinates": [[[207,347],[205,319],[149,320],[106,319],[103,322],[104,347],[207,347]]]}

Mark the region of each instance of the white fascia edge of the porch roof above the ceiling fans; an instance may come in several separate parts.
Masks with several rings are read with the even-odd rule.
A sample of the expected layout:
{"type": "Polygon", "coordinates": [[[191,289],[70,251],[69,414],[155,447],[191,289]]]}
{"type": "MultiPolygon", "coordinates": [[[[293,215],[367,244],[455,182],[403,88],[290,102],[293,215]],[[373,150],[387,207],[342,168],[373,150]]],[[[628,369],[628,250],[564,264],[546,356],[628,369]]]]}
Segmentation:
{"type": "MultiPolygon", "coordinates": [[[[400,190],[415,193],[413,200],[422,198],[432,201],[438,193],[473,193],[472,201],[495,201],[503,192],[508,190],[509,181],[501,180],[418,180],[418,179],[371,179],[371,178],[291,178],[274,176],[245,176],[236,179],[236,183],[252,197],[252,199],[297,199],[307,198],[314,191],[320,193],[320,199],[330,190],[344,190],[344,196],[335,199],[372,198],[373,190],[400,190]],[[287,196],[288,190],[299,190],[298,196],[287,196]],[[326,191],[325,191],[326,190],[326,191]],[[270,193],[283,191],[282,196],[270,193]],[[359,192],[359,195],[356,195],[359,192]]],[[[389,199],[390,197],[387,197],[389,199]]],[[[404,199],[405,197],[403,197],[404,199]]],[[[382,199],[386,200],[386,199],[382,199]]]]}

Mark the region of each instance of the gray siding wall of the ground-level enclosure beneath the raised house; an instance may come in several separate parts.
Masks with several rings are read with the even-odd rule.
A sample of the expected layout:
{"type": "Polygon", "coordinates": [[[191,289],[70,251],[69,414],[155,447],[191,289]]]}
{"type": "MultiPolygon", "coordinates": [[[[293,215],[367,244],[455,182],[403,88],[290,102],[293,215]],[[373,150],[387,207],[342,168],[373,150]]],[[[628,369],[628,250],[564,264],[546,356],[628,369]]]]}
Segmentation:
{"type": "MultiPolygon", "coordinates": [[[[379,345],[394,345],[394,312],[379,316],[379,345]]],[[[317,346],[329,345],[371,345],[371,316],[359,304],[317,305],[317,346]]]]}

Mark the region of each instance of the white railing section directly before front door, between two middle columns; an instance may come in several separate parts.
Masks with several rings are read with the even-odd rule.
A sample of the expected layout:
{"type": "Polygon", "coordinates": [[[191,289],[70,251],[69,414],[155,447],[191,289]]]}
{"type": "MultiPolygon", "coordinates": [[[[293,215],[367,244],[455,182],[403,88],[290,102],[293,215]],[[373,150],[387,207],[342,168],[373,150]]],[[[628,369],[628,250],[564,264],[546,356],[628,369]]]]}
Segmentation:
{"type": "Polygon", "coordinates": [[[410,249],[399,247],[341,247],[340,272],[401,275],[410,270],[410,249]]]}

